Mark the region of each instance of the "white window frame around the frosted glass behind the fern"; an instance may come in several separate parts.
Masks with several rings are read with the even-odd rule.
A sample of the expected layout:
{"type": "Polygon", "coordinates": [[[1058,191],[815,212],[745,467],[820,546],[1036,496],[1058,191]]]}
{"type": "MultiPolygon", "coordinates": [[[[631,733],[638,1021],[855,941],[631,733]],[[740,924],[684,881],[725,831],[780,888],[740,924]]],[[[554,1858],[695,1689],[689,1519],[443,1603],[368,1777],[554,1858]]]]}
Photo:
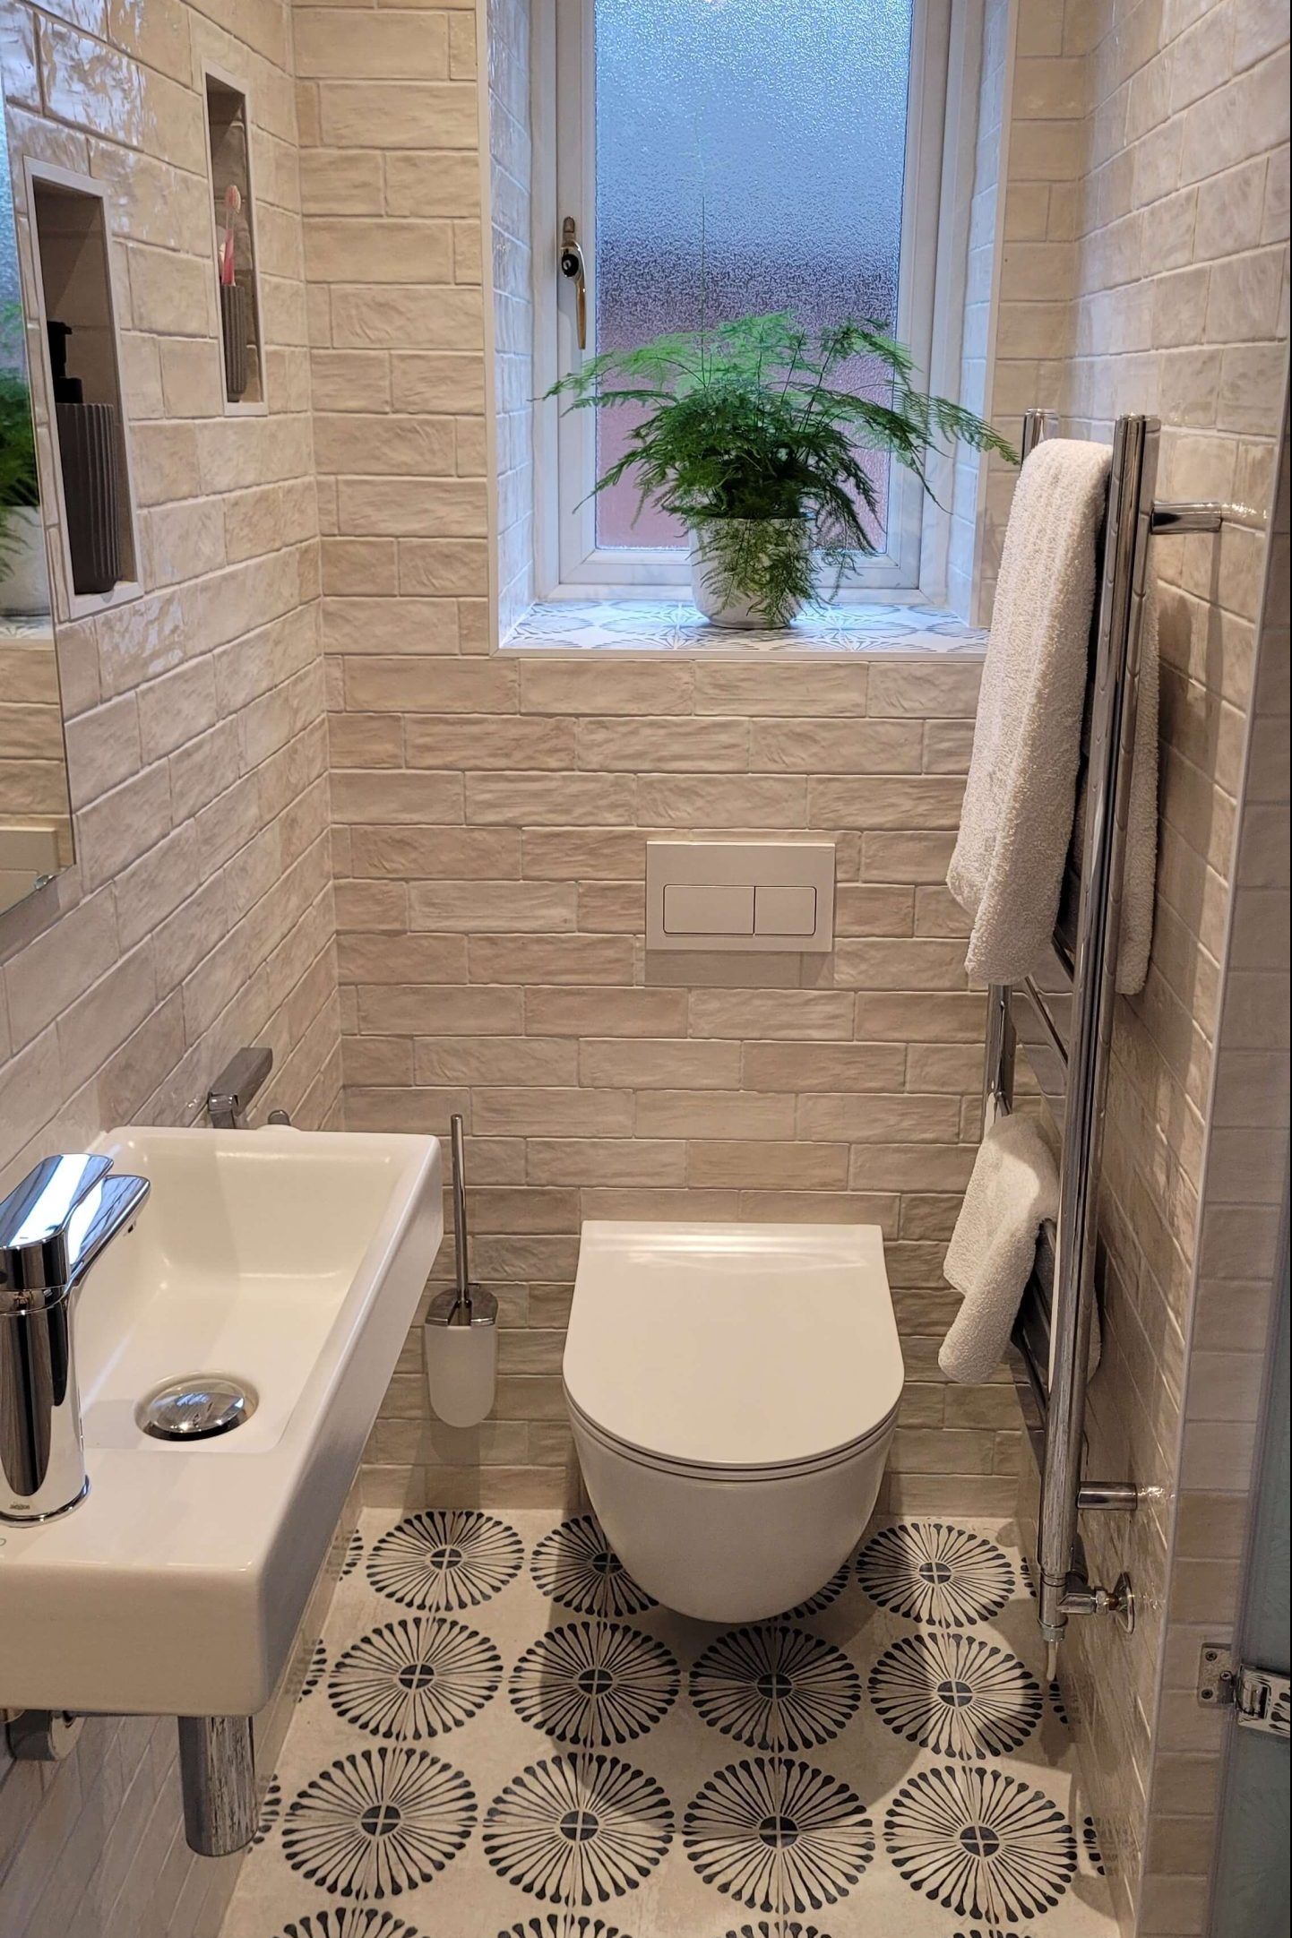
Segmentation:
{"type": "MultiPolygon", "coordinates": [[[[535,576],[540,599],[649,597],[690,585],[686,552],[597,547],[595,506],[587,500],[597,475],[595,415],[562,409],[544,397],[581,355],[575,289],[558,269],[566,215],[575,217],[589,262],[589,355],[597,341],[593,6],[595,0],[535,0],[533,16],[535,391],[540,399],[535,411],[535,576]]],[[[951,0],[914,0],[897,335],[914,353],[920,380],[930,378],[934,355],[949,60],[951,0]]],[[[924,492],[908,471],[893,465],[887,548],[858,564],[841,597],[918,595],[928,537],[924,492]]]]}

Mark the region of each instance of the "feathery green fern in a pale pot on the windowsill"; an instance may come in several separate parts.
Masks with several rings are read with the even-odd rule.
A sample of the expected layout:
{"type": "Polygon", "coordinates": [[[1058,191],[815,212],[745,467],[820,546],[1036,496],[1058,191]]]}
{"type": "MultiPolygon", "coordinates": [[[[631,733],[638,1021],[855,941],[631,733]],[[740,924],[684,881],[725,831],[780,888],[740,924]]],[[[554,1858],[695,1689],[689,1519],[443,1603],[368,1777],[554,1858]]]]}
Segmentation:
{"type": "Polygon", "coordinates": [[[606,351],[554,384],[571,409],[631,405],[628,450],[593,486],[635,473],[690,531],[695,605],[717,626],[786,626],[877,548],[879,504],[866,453],[883,452],[928,490],[939,442],[1009,444],[972,411],[912,382],[910,353],[872,322],[806,329],[790,312],[606,351]],[[839,388],[852,359],[887,401],[839,388]]]}

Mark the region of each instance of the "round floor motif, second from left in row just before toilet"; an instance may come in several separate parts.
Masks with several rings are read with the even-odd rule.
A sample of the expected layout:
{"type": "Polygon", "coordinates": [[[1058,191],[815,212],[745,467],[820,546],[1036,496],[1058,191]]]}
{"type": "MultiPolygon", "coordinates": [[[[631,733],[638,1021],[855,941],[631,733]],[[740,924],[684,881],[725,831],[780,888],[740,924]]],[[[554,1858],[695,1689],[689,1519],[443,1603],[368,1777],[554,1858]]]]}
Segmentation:
{"type": "Polygon", "coordinates": [[[556,1742],[608,1750],[668,1715],[678,1663],[662,1641],[618,1622],[554,1628],[511,1671],[511,1704],[556,1742]]]}

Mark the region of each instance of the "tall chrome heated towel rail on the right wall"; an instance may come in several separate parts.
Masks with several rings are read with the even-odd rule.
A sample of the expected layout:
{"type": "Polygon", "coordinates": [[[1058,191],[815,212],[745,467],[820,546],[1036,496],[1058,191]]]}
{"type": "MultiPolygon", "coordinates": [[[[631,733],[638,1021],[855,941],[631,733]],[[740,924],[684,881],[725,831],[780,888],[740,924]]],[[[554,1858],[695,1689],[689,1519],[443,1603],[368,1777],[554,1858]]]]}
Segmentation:
{"type": "MultiPolygon", "coordinates": [[[[1052,411],[1029,411],[1023,455],[1054,436],[1052,411]]],[[[1131,758],[1139,703],[1139,653],[1153,533],[1218,531],[1216,504],[1154,502],[1158,422],[1120,417],[1112,440],[1108,514],[1083,746],[1085,839],[1069,860],[1060,919],[1046,961],[1021,985],[988,990],[984,1120],[1013,1107],[1015,1054],[1023,1047],[1061,1122],[1060,1211],[1042,1233],[1036,1271],[1015,1328],[1042,1428],[1036,1572],[1040,1628],[1063,1638],[1073,1614],[1135,1618],[1131,1581],[1091,1585],[1077,1535],[1085,1510],[1131,1512],[1133,1481],[1083,1481],[1085,1390],[1094,1312],[1094,1252],[1104,1107],[1122,934],[1122,874],[1131,758]]]]}

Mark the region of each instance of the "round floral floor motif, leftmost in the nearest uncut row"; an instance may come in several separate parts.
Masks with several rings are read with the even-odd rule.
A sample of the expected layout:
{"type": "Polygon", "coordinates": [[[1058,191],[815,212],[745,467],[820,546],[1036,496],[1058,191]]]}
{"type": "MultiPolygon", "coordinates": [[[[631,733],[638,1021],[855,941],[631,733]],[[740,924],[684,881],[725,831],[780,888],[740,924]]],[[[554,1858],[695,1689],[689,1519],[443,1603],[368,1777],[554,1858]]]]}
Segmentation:
{"type": "Polygon", "coordinates": [[[459,1769],[426,1750],[356,1750],[300,1791],[283,1822],[292,1870],[337,1897],[399,1897],[449,1864],[477,1824],[459,1769]]]}

